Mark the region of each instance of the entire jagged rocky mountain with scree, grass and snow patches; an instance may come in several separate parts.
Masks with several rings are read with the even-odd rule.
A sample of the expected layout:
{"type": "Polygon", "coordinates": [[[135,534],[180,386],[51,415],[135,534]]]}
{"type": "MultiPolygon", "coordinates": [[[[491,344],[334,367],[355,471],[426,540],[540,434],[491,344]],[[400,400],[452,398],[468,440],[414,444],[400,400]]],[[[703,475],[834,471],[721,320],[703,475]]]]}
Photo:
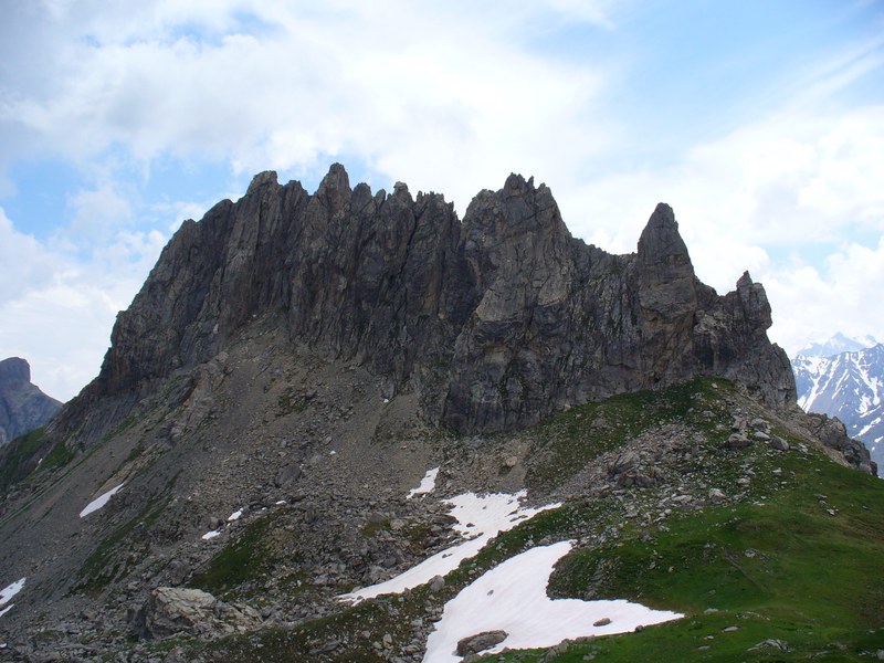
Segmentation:
{"type": "Polygon", "coordinates": [[[770,320],[748,274],[696,278],[665,204],[612,255],[516,175],[461,221],[261,173],[0,450],[0,657],[884,649],[884,484],[798,408],[770,320]]]}

